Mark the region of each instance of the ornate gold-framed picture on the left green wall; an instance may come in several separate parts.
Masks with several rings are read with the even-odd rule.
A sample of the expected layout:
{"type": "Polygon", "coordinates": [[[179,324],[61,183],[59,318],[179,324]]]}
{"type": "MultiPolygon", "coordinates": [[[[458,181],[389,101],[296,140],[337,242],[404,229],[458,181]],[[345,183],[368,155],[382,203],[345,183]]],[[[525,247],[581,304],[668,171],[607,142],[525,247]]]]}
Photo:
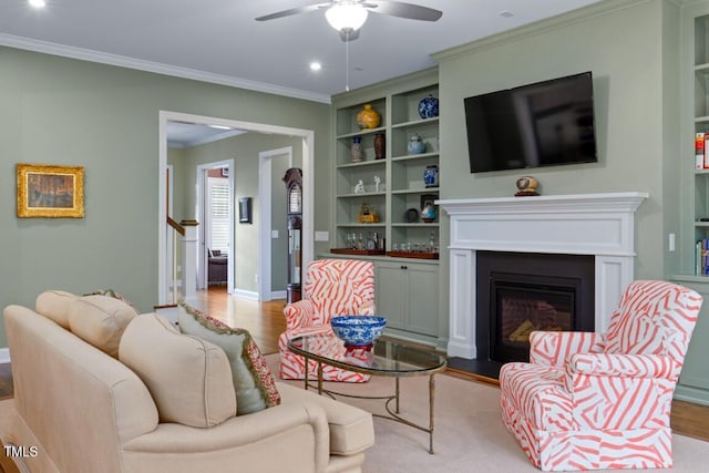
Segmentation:
{"type": "Polygon", "coordinates": [[[18,217],[83,218],[83,166],[18,164],[18,217]]]}

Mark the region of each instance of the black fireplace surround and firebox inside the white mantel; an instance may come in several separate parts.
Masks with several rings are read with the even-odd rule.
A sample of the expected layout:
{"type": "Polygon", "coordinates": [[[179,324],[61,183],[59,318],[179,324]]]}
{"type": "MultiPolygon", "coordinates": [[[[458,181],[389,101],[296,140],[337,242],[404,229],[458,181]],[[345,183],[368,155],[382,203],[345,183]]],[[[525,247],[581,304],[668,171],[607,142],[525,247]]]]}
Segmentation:
{"type": "Polygon", "coordinates": [[[534,330],[593,331],[594,257],[477,251],[477,359],[528,361],[534,330]]]}

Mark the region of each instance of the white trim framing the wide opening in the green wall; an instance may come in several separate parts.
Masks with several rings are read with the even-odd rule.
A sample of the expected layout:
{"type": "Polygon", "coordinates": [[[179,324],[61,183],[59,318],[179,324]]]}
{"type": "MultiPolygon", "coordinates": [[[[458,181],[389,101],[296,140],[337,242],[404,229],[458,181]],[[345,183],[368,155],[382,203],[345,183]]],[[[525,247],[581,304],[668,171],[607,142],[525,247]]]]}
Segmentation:
{"type": "MultiPolygon", "coordinates": [[[[160,305],[169,304],[168,300],[168,275],[166,270],[167,260],[167,215],[166,215],[166,179],[167,173],[167,122],[176,121],[183,123],[194,123],[213,126],[228,126],[232,128],[243,130],[245,132],[265,133],[275,135],[285,135],[290,137],[300,138],[302,146],[302,174],[304,174],[304,213],[302,213],[302,263],[307,265],[314,258],[315,247],[315,224],[314,224],[314,179],[312,169],[315,162],[315,133],[311,130],[291,128],[286,126],[269,125],[263,123],[242,122],[227,119],[218,119],[202,115],[192,115],[178,112],[161,111],[158,114],[160,121],[160,143],[158,143],[158,169],[160,178],[157,183],[158,187],[158,302],[160,305]]],[[[260,194],[260,193],[259,193],[260,194]]],[[[260,244],[264,238],[259,236],[259,257],[261,255],[260,244]]],[[[233,267],[233,265],[229,265],[233,267]]],[[[183,271],[188,268],[183,268],[183,271]]],[[[193,268],[194,277],[196,278],[197,270],[193,268]]],[[[264,280],[261,277],[260,280],[264,280]]],[[[265,295],[260,294],[261,287],[259,284],[258,298],[261,299],[265,295]]],[[[191,295],[185,295],[191,297],[191,295]]]]}

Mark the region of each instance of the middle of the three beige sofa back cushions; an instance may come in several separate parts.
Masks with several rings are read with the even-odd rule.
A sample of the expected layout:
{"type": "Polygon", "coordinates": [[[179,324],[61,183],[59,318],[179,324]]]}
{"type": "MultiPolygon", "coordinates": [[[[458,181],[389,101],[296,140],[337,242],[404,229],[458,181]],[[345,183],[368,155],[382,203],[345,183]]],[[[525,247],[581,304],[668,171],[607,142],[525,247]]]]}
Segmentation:
{"type": "Polygon", "coordinates": [[[69,328],[85,342],[117,358],[121,336],[135,316],[133,308],[119,299],[84,296],[70,306],[69,328]]]}

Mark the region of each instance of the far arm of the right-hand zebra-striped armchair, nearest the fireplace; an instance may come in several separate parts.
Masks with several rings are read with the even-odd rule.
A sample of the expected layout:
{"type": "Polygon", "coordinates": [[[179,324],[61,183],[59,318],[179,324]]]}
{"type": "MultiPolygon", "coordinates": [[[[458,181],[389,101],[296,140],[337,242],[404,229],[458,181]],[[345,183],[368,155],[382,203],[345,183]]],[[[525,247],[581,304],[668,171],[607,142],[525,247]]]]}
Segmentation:
{"type": "Polygon", "coordinates": [[[603,333],[584,331],[533,331],[530,333],[530,362],[562,368],[573,353],[602,353],[603,333]]]}

